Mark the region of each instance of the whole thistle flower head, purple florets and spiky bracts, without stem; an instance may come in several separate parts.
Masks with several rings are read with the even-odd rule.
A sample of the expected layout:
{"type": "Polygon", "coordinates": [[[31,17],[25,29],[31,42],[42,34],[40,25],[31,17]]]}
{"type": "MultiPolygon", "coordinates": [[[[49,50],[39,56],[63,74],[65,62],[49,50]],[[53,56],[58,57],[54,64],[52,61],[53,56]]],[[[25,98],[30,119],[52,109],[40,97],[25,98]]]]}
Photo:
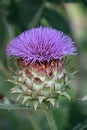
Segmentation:
{"type": "Polygon", "coordinates": [[[47,102],[57,106],[59,96],[70,98],[64,57],[75,55],[76,47],[63,32],[47,27],[27,30],[14,38],[6,51],[18,59],[20,70],[10,80],[16,84],[11,93],[19,93],[17,100],[36,109],[47,102]]]}

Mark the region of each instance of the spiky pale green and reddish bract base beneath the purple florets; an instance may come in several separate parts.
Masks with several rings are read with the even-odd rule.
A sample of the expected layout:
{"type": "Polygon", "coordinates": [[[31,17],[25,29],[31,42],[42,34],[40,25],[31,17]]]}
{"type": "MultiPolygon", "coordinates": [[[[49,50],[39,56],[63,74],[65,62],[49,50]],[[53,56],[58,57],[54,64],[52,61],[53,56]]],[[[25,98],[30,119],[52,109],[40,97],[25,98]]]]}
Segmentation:
{"type": "Polygon", "coordinates": [[[50,103],[59,106],[59,96],[70,99],[67,94],[68,73],[60,70],[60,61],[45,64],[30,64],[22,66],[10,82],[15,84],[11,93],[18,93],[17,101],[34,109],[41,104],[50,103]]]}

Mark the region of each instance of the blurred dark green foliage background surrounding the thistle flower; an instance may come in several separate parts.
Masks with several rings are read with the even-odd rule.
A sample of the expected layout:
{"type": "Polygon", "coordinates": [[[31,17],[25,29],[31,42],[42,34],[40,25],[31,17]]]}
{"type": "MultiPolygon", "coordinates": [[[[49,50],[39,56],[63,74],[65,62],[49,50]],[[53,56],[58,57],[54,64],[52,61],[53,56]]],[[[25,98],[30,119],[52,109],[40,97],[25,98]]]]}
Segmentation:
{"type": "Polygon", "coordinates": [[[76,43],[78,55],[67,62],[67,68],[78,70],[74,79],[71,101],[63,100],[53,109],[58,130],[87,130],[87,0],[0,0],[0,130],[49,130],[43,111],[14,109],[9,93],[13,61],[5,48],[9,41],[40,25],[68,34],[76,43]],[[12,107],[13,108],[13,107],[12,107]]]}

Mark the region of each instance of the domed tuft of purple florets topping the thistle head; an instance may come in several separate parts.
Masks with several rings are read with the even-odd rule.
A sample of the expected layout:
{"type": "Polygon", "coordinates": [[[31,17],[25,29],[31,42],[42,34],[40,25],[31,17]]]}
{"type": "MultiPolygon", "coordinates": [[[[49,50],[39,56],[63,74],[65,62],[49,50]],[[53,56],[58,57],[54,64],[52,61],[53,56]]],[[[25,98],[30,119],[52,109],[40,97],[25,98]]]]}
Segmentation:
{"type": "Polygon", "coordinates": [[[14,38],[6,51],[8,56],[22,58],[26,63],[35,63],[75,55],[76,47],[71,38],[63,32],[48,27],[38,27],[14,38]]]}

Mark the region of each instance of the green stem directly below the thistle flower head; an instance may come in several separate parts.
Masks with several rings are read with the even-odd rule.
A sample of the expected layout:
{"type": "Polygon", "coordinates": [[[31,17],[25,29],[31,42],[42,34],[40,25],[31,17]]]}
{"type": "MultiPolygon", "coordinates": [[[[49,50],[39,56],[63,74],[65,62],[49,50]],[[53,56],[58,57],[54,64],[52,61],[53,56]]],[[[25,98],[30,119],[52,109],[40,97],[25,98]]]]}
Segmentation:
{"type": "Polygon", "coordinates": [[[53,113],[51,112],[50,108],[44,109],[44,113],[47,118],[50,130],[58,130],[56,123],[54,121],[53,113]]]}

